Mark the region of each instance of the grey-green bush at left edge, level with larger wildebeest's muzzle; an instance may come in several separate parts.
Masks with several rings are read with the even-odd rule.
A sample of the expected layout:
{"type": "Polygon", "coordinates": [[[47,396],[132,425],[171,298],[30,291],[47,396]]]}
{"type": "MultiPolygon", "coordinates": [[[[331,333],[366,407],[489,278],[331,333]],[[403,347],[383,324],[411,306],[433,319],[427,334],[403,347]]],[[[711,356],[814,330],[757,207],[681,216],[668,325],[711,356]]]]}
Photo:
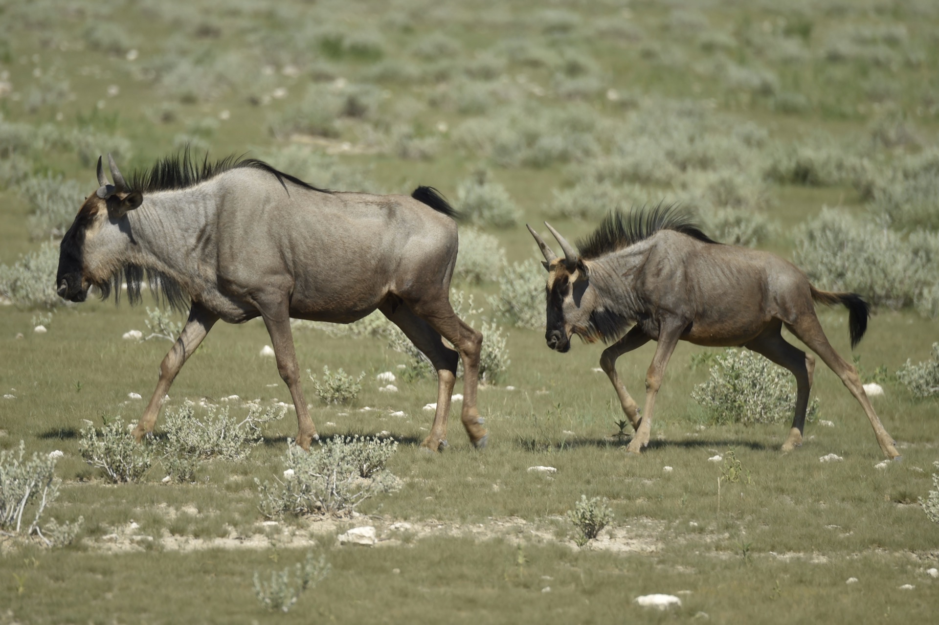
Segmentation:
{"type": "Polygon", "coordinates": [[[55,308],[65,300],[55,293],[58,246],[43,243],[36,252],[22,256],[11,267],[0,265],[0,296],[19,308],[55,308]]]}

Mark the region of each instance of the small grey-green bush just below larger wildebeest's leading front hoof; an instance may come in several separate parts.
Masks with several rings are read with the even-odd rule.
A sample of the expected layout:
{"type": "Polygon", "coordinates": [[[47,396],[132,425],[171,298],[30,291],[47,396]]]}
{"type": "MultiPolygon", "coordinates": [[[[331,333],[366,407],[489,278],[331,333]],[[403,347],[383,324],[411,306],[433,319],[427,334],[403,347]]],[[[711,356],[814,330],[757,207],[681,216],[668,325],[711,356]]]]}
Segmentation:
{"type": "Polygon", "coordinates": [[[137,443],[129,426],[119,417],[104,419],[99,439],[91,421],[79,432],[78,449],[85,462],[100,468],[112,483],[140,481],[153,462],[153,445],[149,440],[137,443]]]}

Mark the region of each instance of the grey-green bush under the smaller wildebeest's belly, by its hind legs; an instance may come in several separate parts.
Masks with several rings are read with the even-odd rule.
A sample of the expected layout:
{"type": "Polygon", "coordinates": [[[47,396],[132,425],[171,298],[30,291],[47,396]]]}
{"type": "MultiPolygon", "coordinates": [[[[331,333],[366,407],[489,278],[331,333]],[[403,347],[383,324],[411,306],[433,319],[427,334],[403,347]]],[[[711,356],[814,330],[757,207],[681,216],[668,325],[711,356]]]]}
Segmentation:
{"type": "MultiPolygon", "coordinates": [[[[714,358],[710,378],[691,397],[716,425],[778,423],[795,411],[793,374],[745,349],[727,349],[714,358]]],[[[818,398],[808,404],[807,419],[818,413],[818,398]]]]}

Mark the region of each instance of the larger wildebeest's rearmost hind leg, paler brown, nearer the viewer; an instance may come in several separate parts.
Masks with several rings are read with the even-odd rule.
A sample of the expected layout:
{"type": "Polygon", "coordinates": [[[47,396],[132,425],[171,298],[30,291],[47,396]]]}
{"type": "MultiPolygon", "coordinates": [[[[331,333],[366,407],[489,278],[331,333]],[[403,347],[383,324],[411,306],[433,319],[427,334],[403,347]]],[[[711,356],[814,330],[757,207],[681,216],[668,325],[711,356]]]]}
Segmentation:
{"type": "MultiPolygon", "coordinates": [[[[446,291],[443,291],[445,294],[446,291]]],[[[443,297],[425,297],[412,304],[411,310],[426,320],[444,339],[453,343],[463,358],[463,427],[476,448],[485,447],[486,432],[483,419],[476,409],[476,387],[479,384],[479,356],[483,348],[483,334],[463,323],[456,316],[450,300],[443,297]]]]}

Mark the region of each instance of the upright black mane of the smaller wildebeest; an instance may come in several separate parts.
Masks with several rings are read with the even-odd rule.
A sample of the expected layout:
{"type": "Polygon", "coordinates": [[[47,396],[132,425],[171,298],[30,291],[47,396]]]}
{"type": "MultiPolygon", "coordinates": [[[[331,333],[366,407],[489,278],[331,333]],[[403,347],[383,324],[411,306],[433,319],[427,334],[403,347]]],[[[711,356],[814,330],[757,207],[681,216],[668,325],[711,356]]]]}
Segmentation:
{"type": "Polygon", "coordinates": [[[597,258],[647,239],[659,230],[674,230],[705,243],[717,242],[701,232],[698,224],[677,206],[659,204],[649,211],[644,207],[630,210],[628,215],[620,209],[611,210],[593,234],[577,241],[577,249],[581,258],[597,258]]]}

